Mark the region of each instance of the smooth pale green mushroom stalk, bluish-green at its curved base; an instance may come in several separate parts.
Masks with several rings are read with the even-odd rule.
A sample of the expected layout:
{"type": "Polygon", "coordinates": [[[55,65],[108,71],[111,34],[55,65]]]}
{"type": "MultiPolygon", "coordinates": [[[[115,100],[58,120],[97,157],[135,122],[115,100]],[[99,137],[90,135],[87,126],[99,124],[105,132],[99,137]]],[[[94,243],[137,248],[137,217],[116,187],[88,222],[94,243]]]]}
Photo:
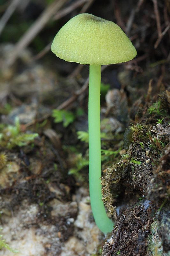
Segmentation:
{"type": "Polygon", "coordinates": [[[89,75],[89,187],[94,220],[105,234],[113,230],[107,217],[101,195],[101,143],[100,143],[100,80],[101,66],[90,65],[89,75]]]}

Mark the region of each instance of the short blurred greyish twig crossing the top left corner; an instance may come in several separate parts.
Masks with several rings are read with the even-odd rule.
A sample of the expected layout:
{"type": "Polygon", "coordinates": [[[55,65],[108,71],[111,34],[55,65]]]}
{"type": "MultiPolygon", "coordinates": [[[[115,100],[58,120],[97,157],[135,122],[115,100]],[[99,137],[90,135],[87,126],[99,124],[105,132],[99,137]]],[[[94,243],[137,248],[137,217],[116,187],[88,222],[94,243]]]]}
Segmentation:
{"type": "Polygon", "coordinates": [[[11,4],[8,6],[8,8],[6,9],[6,12],[4,12],[1,20],[0,20],[0,34],[2,33],[7,21],[10,19],[12,13],[15,11],[15,9],[17,8],[18,3],[21,0],[13,0],[11,2],[11,4]]]}

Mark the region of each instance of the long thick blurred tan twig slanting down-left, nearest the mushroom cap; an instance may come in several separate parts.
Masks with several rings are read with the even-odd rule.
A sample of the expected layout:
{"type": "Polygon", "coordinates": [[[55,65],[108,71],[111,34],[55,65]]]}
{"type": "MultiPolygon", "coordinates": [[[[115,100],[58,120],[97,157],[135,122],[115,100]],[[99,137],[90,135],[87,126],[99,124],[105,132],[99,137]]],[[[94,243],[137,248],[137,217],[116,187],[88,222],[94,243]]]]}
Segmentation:
{"type": "Polygon", "coordinates": [[[47,24],[47,22],[51,19],[55,12],[59,10],[67,1],[68,0],[55,0],[42,12],[39,18],[33,23],[33,25],[26,31],[26,33],[16,44],[13,52],[11,53],[11,57],[7,60],[6,67],[10,67],[15,62],[15,60],[18,58],[20,51],[26,48],[26,46],[31,43],[33,38],[47,24]]]}

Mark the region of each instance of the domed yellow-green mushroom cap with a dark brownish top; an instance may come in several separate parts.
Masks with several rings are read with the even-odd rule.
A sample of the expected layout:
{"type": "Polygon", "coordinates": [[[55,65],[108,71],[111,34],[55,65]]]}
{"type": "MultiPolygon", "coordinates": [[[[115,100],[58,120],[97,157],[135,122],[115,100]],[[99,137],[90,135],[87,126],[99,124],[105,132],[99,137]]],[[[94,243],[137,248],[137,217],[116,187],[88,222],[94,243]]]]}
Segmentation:
{"type": "Polygon", "coordinates": [[[51,51],[60,59],[91,65],[126,62],[137,55],[118,25],[88,13],[78,14],[59,30],[51,51]]]}

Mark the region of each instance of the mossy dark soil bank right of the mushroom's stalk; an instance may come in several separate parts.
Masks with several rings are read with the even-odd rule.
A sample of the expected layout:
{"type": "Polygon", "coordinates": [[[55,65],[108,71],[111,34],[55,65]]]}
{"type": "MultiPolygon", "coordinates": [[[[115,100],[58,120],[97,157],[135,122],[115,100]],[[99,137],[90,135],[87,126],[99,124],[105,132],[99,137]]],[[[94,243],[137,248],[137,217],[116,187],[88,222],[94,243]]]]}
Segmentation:
{"type": "MultiPolygon", "coordinates": [[[[165,111],[162,110],[164,101],[166,102],[166,93],[162,93],[155,99],[156,104],[145,103],[143,115],[140,118],[135,117],[137,122],[133,121],[134,124],[127,129],[131,132],[124,136],[125,142],[127,142],[126,139],[128,140],[128,143],[124,143],[128,145],[128,150],[123,154],[119,163],[107,168],[106,175],[102,179],[105,205],[112,214],[115,206],[117,207],[116,216],[119,220],[124,216],[121,237],[123,242],[121,247],[116,247],[117,251],[121,249],[122,254],[126,253],[128,239],[133,235],[130,223],[134,216],[134,221],[141,220],[141,213],[136,210],[136,214],[134,209],[142,205],[145,208],[144,212],[148,215],[140,224],[143,223],[146,228],[140,230],[138,223],[135,229],[136,234],[133,235],[133,250],[131,248],[130,255],[167,256],[170,252],[170,209],[166,206],[170,202],[170,118],[168,115],[170,106],[166,102],[166,116],[163,116],[165,115],[165,111]],[[156,110],[151,111],[151,104],[156,110]],[[158,123],[158,119],[161,122],[158,123]],[[147,201],[149,204],[146,207],[147,201]],[[129,221],[128,216],[131,216],[129,221]],[[146,230],[148,233],[145,232],[146,230]],[[123,246],[125,250],[122,250],[123,246]]],[[[106,254],[107,246],[105,249],[106,254]]],[[[115,252],[111,256],[115,256],[115,252]]]]}

